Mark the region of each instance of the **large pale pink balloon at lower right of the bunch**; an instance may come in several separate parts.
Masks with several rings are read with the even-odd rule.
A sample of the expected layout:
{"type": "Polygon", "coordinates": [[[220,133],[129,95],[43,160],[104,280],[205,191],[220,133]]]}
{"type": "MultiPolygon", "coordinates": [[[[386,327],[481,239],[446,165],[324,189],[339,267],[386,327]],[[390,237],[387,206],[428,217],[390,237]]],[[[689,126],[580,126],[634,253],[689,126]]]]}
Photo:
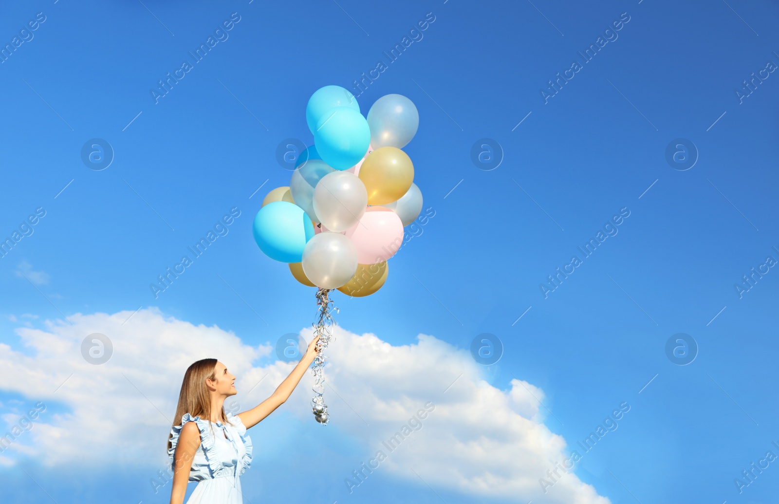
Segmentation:
{"type": "Polygon", "coordinates": [[[358,263],[381,263],[403,245],[403,222],[386,206],[368,206],[360,221],[344,234],[357,247],[358,263]]]}

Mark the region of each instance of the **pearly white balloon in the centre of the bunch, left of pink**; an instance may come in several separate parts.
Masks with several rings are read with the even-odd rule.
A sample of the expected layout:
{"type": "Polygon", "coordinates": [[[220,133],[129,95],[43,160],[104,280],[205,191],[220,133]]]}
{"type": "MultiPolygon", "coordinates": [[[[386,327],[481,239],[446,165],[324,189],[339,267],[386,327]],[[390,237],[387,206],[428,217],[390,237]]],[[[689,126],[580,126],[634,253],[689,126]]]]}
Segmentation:
{"type": "Polygon", "coordinates": [[[314,188],[314,212],[330,231],[346,231],[357,224],[368,206],[368,191],[348,171],[326,174],[314,188]]]}

